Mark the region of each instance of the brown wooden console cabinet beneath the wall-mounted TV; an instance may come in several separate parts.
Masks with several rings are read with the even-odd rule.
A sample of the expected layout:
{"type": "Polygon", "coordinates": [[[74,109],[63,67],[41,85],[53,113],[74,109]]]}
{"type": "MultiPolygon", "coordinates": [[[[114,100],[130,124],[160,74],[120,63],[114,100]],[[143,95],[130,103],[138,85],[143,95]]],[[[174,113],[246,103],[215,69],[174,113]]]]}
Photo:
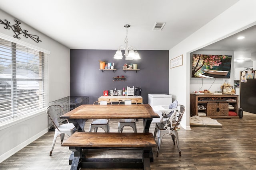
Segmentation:
{"type": "Polygon", "coordinates": [[[239,118],[238,95],[190,94],[190,114],[193,116],[198,113],[203,113],[205,117],[212,119],[239,118]],[[229,116],[229,111],[234,111],[236,116],[229,116]]]}

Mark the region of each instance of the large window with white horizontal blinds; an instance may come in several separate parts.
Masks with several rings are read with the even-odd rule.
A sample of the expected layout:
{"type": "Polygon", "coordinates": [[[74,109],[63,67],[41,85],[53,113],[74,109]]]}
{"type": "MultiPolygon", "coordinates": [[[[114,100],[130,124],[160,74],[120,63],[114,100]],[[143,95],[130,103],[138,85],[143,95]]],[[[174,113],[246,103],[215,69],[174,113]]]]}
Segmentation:
{"type": "Polygon", "coordinates": [[[43,52],[0,39],[0,122],[46,106],[43,52]]]}

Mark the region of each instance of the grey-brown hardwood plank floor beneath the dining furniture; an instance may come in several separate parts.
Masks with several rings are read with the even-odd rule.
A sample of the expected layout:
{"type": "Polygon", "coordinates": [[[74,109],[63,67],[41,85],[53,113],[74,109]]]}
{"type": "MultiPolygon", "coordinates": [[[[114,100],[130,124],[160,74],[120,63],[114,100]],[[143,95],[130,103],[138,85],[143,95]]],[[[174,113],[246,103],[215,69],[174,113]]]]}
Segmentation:
{"type": "MultiPolygon", "coordinates": [[[[162,141],[159,156],[154,152],[152,170],[254,170],[256,169],[256,115],[244,113],[242,119],[217,119],[222,128],[191,127],[181,129],[179,134],[182,156],[176,145],[166,135],[162,141]]],[[[85,130],[89,127],[86,123],[85,130]]],[[[117,120],[110,120],[110,131],[117,131],[117,120]]],[[[137,122],[138,132],[142,129],[142,120],[137,122]]],[[[125,127],[124,132],[132,128],[125,127]]],[[[154,123],[150,127],[154,133],[154,123]]],[[[60,146],[60,137],[49,156],[54,132],[50,131],[23,148],[4,162],[0,170],[69,170],[68,158],[71,151],[60,146]]],[[[66,137],[65,137],[66,138],[66,137]]],[[[97,152],[92,156],[140,156],[131,150],[97,152]]],[[[81,170],[88,170],[87,168],[81,170]]],[[[93,169],[90,169],[93,170],[93,169]]]]}

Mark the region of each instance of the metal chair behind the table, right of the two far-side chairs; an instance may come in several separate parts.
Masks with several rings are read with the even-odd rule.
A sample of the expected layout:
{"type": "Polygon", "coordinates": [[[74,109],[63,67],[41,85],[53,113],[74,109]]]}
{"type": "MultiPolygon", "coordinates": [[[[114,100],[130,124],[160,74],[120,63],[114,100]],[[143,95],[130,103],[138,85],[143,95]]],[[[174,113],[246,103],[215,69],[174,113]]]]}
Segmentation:
{"type": "MultiPolygon", "coordinates": [[[[131,105],[132,102],[137,104],[135,100],[122,100],[118,104],[124,103],[125,105],[131,105]]],[[[130,126],[132,127],[133,131],[137,133],[137,127],[136,127],[136,121],[135,119],[120,119],[118,122],[118,132],[122,132],[124,129],[124,126],[130,126]]]]}

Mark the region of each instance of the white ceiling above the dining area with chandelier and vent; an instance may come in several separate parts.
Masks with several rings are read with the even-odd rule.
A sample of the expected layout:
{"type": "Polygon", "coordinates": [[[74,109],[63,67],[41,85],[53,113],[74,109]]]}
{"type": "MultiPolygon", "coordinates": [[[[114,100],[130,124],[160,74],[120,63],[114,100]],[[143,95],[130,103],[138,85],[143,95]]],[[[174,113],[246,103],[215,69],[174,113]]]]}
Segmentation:
{"type": "Polygon", "coordinates": [[[21,26],[27,23],[70,49],[118,49],[124,45],[124,25],[130,24],[128,45],[138,50],[169,50],[236,2],[0,0],[0,9],[20,20],[21,26]],[[166,22],[162,31],[152,31],[156,22],[166,22]]]}

